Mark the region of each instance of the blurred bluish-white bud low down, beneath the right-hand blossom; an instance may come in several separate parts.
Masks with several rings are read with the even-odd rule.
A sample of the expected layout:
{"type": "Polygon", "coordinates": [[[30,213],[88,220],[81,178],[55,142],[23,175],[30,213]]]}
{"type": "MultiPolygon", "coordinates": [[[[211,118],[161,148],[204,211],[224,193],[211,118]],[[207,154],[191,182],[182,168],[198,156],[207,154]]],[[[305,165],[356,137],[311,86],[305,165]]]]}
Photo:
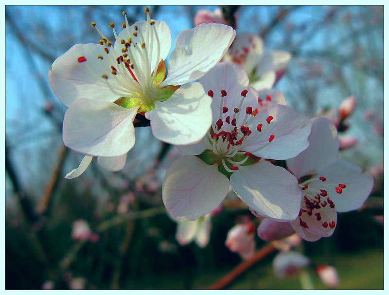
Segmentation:
{"type": "Polygon", "coordinates": [[[309,264],[309,259],[299,252],[280,252],[273,260],[276,277],[294,276],[309,264]]]}

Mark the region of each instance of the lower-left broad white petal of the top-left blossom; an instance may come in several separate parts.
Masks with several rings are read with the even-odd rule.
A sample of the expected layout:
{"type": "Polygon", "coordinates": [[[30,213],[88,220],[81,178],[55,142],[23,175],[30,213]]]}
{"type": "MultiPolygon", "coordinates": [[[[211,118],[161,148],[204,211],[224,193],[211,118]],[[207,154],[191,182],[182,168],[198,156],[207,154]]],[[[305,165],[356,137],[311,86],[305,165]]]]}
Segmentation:
{"type": "Polygon", "coordinates": [[[132,121],[137,109],[80,98],[65,113],[64,143],[71,149],[93,156],[123,155],[135,144],[132,121]]]}

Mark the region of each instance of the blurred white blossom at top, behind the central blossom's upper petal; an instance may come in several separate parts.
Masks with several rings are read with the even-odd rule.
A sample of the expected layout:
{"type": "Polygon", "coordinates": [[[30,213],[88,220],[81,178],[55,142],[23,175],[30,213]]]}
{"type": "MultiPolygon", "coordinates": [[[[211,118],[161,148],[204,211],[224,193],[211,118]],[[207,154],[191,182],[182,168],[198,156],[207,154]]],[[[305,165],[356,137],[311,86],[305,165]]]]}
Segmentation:
{"type": "Polygon", "coordinates": [[[236,36],[223,60],[241,66],[248,74],[250,86],[262,96],[271,90],[285,73],[290,58],[290,53],[281,50],[264,54],[261,37],[251,33],[241,33],[236,36]]]}

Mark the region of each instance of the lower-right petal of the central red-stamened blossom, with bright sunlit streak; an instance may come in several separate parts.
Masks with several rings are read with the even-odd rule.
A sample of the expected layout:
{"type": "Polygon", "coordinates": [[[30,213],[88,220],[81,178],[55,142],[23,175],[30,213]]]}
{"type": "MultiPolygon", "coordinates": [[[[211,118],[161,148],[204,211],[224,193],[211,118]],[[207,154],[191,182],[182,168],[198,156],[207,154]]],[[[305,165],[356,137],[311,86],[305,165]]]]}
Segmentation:
{"type": "Polygon", "coordinates": [[[239,166],[230,181],[238,197],[263,217],[291,221],[299,213],[301,191],[297,179],[282,167],[267,161],[239,166]]]}

